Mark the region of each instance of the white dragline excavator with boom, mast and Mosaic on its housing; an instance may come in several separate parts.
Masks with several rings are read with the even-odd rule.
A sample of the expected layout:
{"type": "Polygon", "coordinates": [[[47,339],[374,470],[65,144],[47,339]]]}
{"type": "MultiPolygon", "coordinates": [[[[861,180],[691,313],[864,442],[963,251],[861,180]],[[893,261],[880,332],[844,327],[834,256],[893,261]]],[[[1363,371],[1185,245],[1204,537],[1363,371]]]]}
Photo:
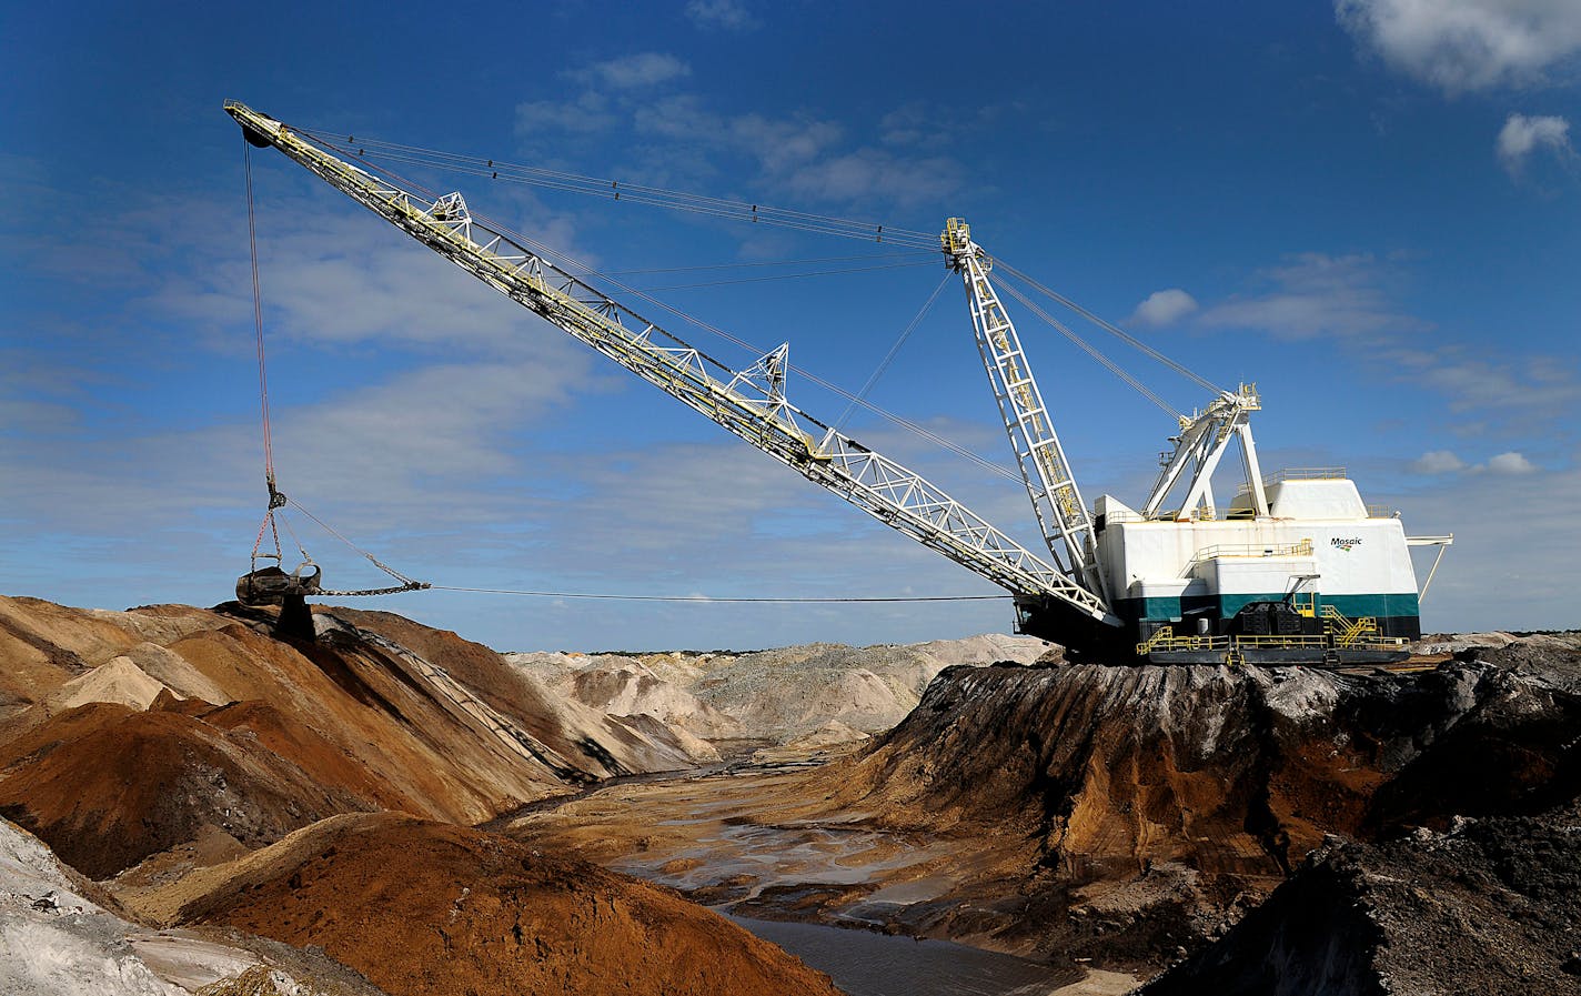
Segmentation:
{"type": "Polygon", "coordinates": [[[1216,389],[1202,411],[1179,416],[1175,447],[1140,507],[1100,495],[1089,511],[990,278],[993,259],[957,218],[939,247],[964,285],[1047,556],[797,408],[786,397],[787,345],[730,370],[522,245],[526,239],[474,218],[460,193],[430,199],[335,155],[323,138],[236,101],[225,109],[251,145],[278,149],[808,481],[1007,590],[1024,634],[1110,658],[1251,664],[1394,661],[1421,634],[1409,547],[1434,544],[1442,555],[1451,538],[1407,538],[1396,514],[1363,504],[1338,470],[1265,477],[1249,421],[1260,408],[1255,387],[1216,389]],[[1232,447],[1244,484],[1219,507],[1211,481],[1232,447]]]}

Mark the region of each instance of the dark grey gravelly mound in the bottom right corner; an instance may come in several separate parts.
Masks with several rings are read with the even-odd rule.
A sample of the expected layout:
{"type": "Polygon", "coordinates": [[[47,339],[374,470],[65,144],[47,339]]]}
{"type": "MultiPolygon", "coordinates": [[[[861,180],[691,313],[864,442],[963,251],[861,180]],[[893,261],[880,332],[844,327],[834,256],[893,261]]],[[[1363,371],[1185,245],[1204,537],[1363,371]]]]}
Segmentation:
{"type": "Polygon", "coordinates": [[[1146,996],[1581,993],[1581,811],[1333,841],[1146,996]]]}

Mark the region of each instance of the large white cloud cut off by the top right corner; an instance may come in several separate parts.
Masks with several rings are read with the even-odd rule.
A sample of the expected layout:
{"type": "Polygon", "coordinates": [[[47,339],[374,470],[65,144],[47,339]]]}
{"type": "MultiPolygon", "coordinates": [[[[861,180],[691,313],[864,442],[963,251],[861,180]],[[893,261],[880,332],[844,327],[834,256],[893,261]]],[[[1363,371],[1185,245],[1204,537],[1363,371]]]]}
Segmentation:
{"type": "Polygon", "coordinates": [[[1532,85],[1581,51],[1575,0],[1336,0],[1356,40],[1450,95],[1532,85]]]}

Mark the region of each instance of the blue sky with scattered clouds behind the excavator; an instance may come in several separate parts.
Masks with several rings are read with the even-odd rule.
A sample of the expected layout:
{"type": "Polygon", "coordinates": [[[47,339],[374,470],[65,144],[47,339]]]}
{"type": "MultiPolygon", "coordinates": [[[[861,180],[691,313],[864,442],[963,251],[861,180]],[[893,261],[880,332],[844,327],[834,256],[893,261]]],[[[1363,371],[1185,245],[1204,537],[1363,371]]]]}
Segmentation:
{"type": "MultiPolygon", "coordinates": [[[[628,185],[923,232],[966,218],[996,259],[1209,381],[1255,383],[1265,470],[1344,466],[1409,533],[1453,533],[1426,629],[1581,624],[1573,0],[6,5],[0,593],[212,606],[250,566],[267,495],[228,98],[628,185]]],[[[413,175],[642,289],[734,368],[789,341],[854,392],[893,349],[870,402],[1012,466],[938,253],[413,175]]],[[[251,180],[280,487],[356,547],[288,507],[326,587],[387,583],[360,549],[449,588],[689,599],[360,607],[500,650],[1012,626],[1007,601],[708,601],[999,590],[274,150],[251,180]]],[[[1007,307],[1085,496],[1138,504],[1173,417],[1007,307]]],[[[1209,400],[1062,319],[1168,406],[1209,400]]],[[[789,395],[846,409],[800,373],[789,395]]],[[[843,428],[1036,542],[1017,481],[866,409],[843,428]]]]}

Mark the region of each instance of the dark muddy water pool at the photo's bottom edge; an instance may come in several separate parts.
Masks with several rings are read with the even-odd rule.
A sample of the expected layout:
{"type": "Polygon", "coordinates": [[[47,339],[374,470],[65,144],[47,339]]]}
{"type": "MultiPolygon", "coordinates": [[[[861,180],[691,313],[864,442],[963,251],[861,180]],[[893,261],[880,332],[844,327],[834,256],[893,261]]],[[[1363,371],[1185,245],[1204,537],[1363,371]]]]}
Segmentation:
{"type": "Polygon", "coordinates": [[[944,941],[730,919],[828,972],[851,996],[1047,996],[1070,982],[1047,964],[944,941]]]}

